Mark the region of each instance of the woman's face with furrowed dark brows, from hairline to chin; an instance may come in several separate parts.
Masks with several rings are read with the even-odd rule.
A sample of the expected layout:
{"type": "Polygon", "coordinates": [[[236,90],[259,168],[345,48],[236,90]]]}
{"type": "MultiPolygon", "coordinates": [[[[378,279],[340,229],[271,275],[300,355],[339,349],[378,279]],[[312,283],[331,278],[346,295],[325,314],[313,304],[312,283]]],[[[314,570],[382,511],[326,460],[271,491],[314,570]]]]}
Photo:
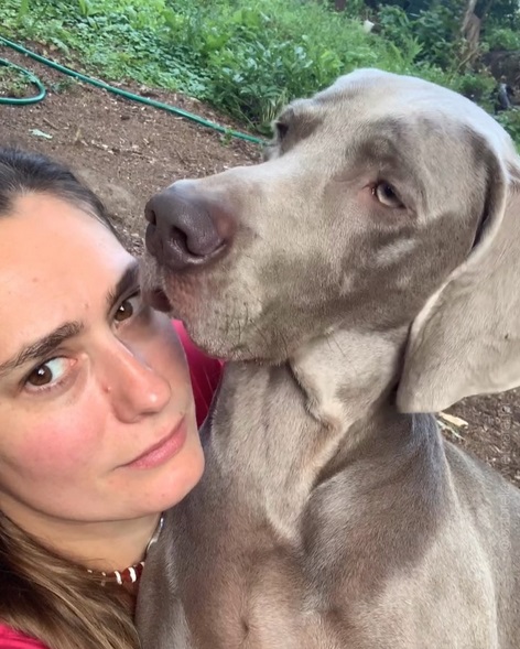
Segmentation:
{"type": "Polygon", "coordinates": [[[203,454],[184,354],[136,260],[44,194],[0,218],[0,510],[75,521],[159,512],[203,454]]]}

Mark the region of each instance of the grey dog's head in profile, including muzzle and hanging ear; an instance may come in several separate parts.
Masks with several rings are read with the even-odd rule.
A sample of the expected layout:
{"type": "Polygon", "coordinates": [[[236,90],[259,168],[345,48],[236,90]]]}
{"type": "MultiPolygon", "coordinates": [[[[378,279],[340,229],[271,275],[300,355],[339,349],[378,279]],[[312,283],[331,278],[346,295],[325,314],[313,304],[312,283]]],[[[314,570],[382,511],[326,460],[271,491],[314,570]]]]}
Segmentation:
{"type": "Polygon", "coordinates": [[[280,363],[337,328],[411,325],[399,390],[434,411],[520,383],[509,137],[462,96],[358,71],[275,122],[266,161],[148,207],[148,284],[209,354],[280,363]]]}

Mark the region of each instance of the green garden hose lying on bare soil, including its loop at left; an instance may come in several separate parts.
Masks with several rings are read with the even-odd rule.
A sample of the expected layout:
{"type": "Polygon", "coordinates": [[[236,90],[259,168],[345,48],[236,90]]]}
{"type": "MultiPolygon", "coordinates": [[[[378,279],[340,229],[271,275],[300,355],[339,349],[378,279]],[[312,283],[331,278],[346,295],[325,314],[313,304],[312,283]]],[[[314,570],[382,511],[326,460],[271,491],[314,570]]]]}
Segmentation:
{"type": "MultiPolygon", "coordinates": [[[[260,138],[256,138],[254,136],[250,136],[248,133],[241,133],[239,131],[234,131],[232,129],[227,129],[226,127],[223,127],[223,126],[217,125],[213,121],[204,119],[203,117],[198,117],[197,115],[193,115],[192,112],[187,112],[187,110],[183,110],[182,108],[175,108],[174,106],[171,106],[170,104],[163,104],[162,101],[155,101],[154,99],[149,99],[148,97],[141,97],[140,95],[134,95],[133,93],[128,93],[127,90],[121,90],[120,88],[117,88],[116,86],[110,86],[109,84],[106,84],[105,82],[99,82],[98,79],[94,79],[91,77],[88,77],[87,75],[84,75],[79,72],[71,69],[69,67],[65,67],[64,65],[59,65],[59,63],[55,63],[54,61],[45,58],[44,56],[41,56],[40,54],[36,54],[35,52],[31,52],[30,50],[26,50],[25,47],[23,47],[22,45],[19,45],[18,43],[13,43],[12,41],[8,41],[3,36],[0,36],[0,44],[6,45],[7,47],[11,47],[12,50],[20,52],[21,54],[24,54],[25,56],[29,56],[30,58],[34,58],[34,61],[37,61],[39,63],[43,63],[44,65],[47,65],[48,67],[57,69],[62,74],[66,74],[71,77],[74,77],[74,78],[76,78],[80,82],[84,82],[86,84],[90,84],[93,86],[96,86],[98,88],[104,88],[105,90],[108,90],[109,93],[113,93],[115,95],[120,95],[121,97],[124,97],[126,99],[130,99],[132,101],[139,101],[140,104],[144,104],[147,106],[153,106],[154,108],[159,108],[161,110],[166,110],[167,112],[173,112],[174,115],[178,115],[180,117],[184,117],[185,119],[194,121],[203,127],[206,127],[208,129],[213,129],[214,131],[218,131],[219,133],[224,133],[225,136],[228,136],[231,138],[238,138],[240,140],[253,142],[254,144],[264,144],[263,140],[261,140],[260,138]]],[[[25,74],[30,78],[30,80],[33,84],[36,85],[36,87],[40,90],[40,94],[34,97],[23,97],[21,99],[10,98],[10,97],[9,98],[0,98],[0,104],[12,104],[12,105],[35,104],[36,101],[41,101],[45,97],[45,87],[43,86],[43,84],[40,82],[40,79],[35,75],[33,75],[31,72],[29,72],[22,67],[19,67],[18,65],[14,65],[12,63],[9,63],[8,61],[4,61],[3,58],[0,60],[0,63],[2,65],[11,65],[12,67],[21,71],[23,74],[25,74]]]]}

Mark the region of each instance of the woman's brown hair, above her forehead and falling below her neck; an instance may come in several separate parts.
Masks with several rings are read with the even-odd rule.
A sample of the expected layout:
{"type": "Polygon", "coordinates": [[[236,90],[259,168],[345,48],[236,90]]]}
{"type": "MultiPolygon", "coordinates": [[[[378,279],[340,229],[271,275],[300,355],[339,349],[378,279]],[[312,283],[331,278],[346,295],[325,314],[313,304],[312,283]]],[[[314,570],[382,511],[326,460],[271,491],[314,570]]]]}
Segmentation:
{"type": "MultiPolygon", "coordinates": [[[[99,198],[66,166],[45,155],[0,148],[0,216],[17,197],[52,194],[111,231],[99,198]]],[[[59,556],[0,513],[0,621],[50,649],[137,649],[131,595],[102,584],[85,567],[59,556]]]]}

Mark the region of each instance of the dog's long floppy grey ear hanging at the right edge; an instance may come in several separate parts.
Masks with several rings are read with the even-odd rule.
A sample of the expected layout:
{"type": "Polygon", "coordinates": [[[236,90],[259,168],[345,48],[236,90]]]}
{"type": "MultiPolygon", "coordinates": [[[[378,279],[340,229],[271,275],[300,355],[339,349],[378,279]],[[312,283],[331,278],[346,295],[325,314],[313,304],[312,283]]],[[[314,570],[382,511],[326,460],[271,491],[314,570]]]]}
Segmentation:
{"type": "Polygon", "coordinates": [[[437,412],[520,385],[520,166],[487,153],[483,227],[411,327],[398,389],[402,412],[437,412]]]}

